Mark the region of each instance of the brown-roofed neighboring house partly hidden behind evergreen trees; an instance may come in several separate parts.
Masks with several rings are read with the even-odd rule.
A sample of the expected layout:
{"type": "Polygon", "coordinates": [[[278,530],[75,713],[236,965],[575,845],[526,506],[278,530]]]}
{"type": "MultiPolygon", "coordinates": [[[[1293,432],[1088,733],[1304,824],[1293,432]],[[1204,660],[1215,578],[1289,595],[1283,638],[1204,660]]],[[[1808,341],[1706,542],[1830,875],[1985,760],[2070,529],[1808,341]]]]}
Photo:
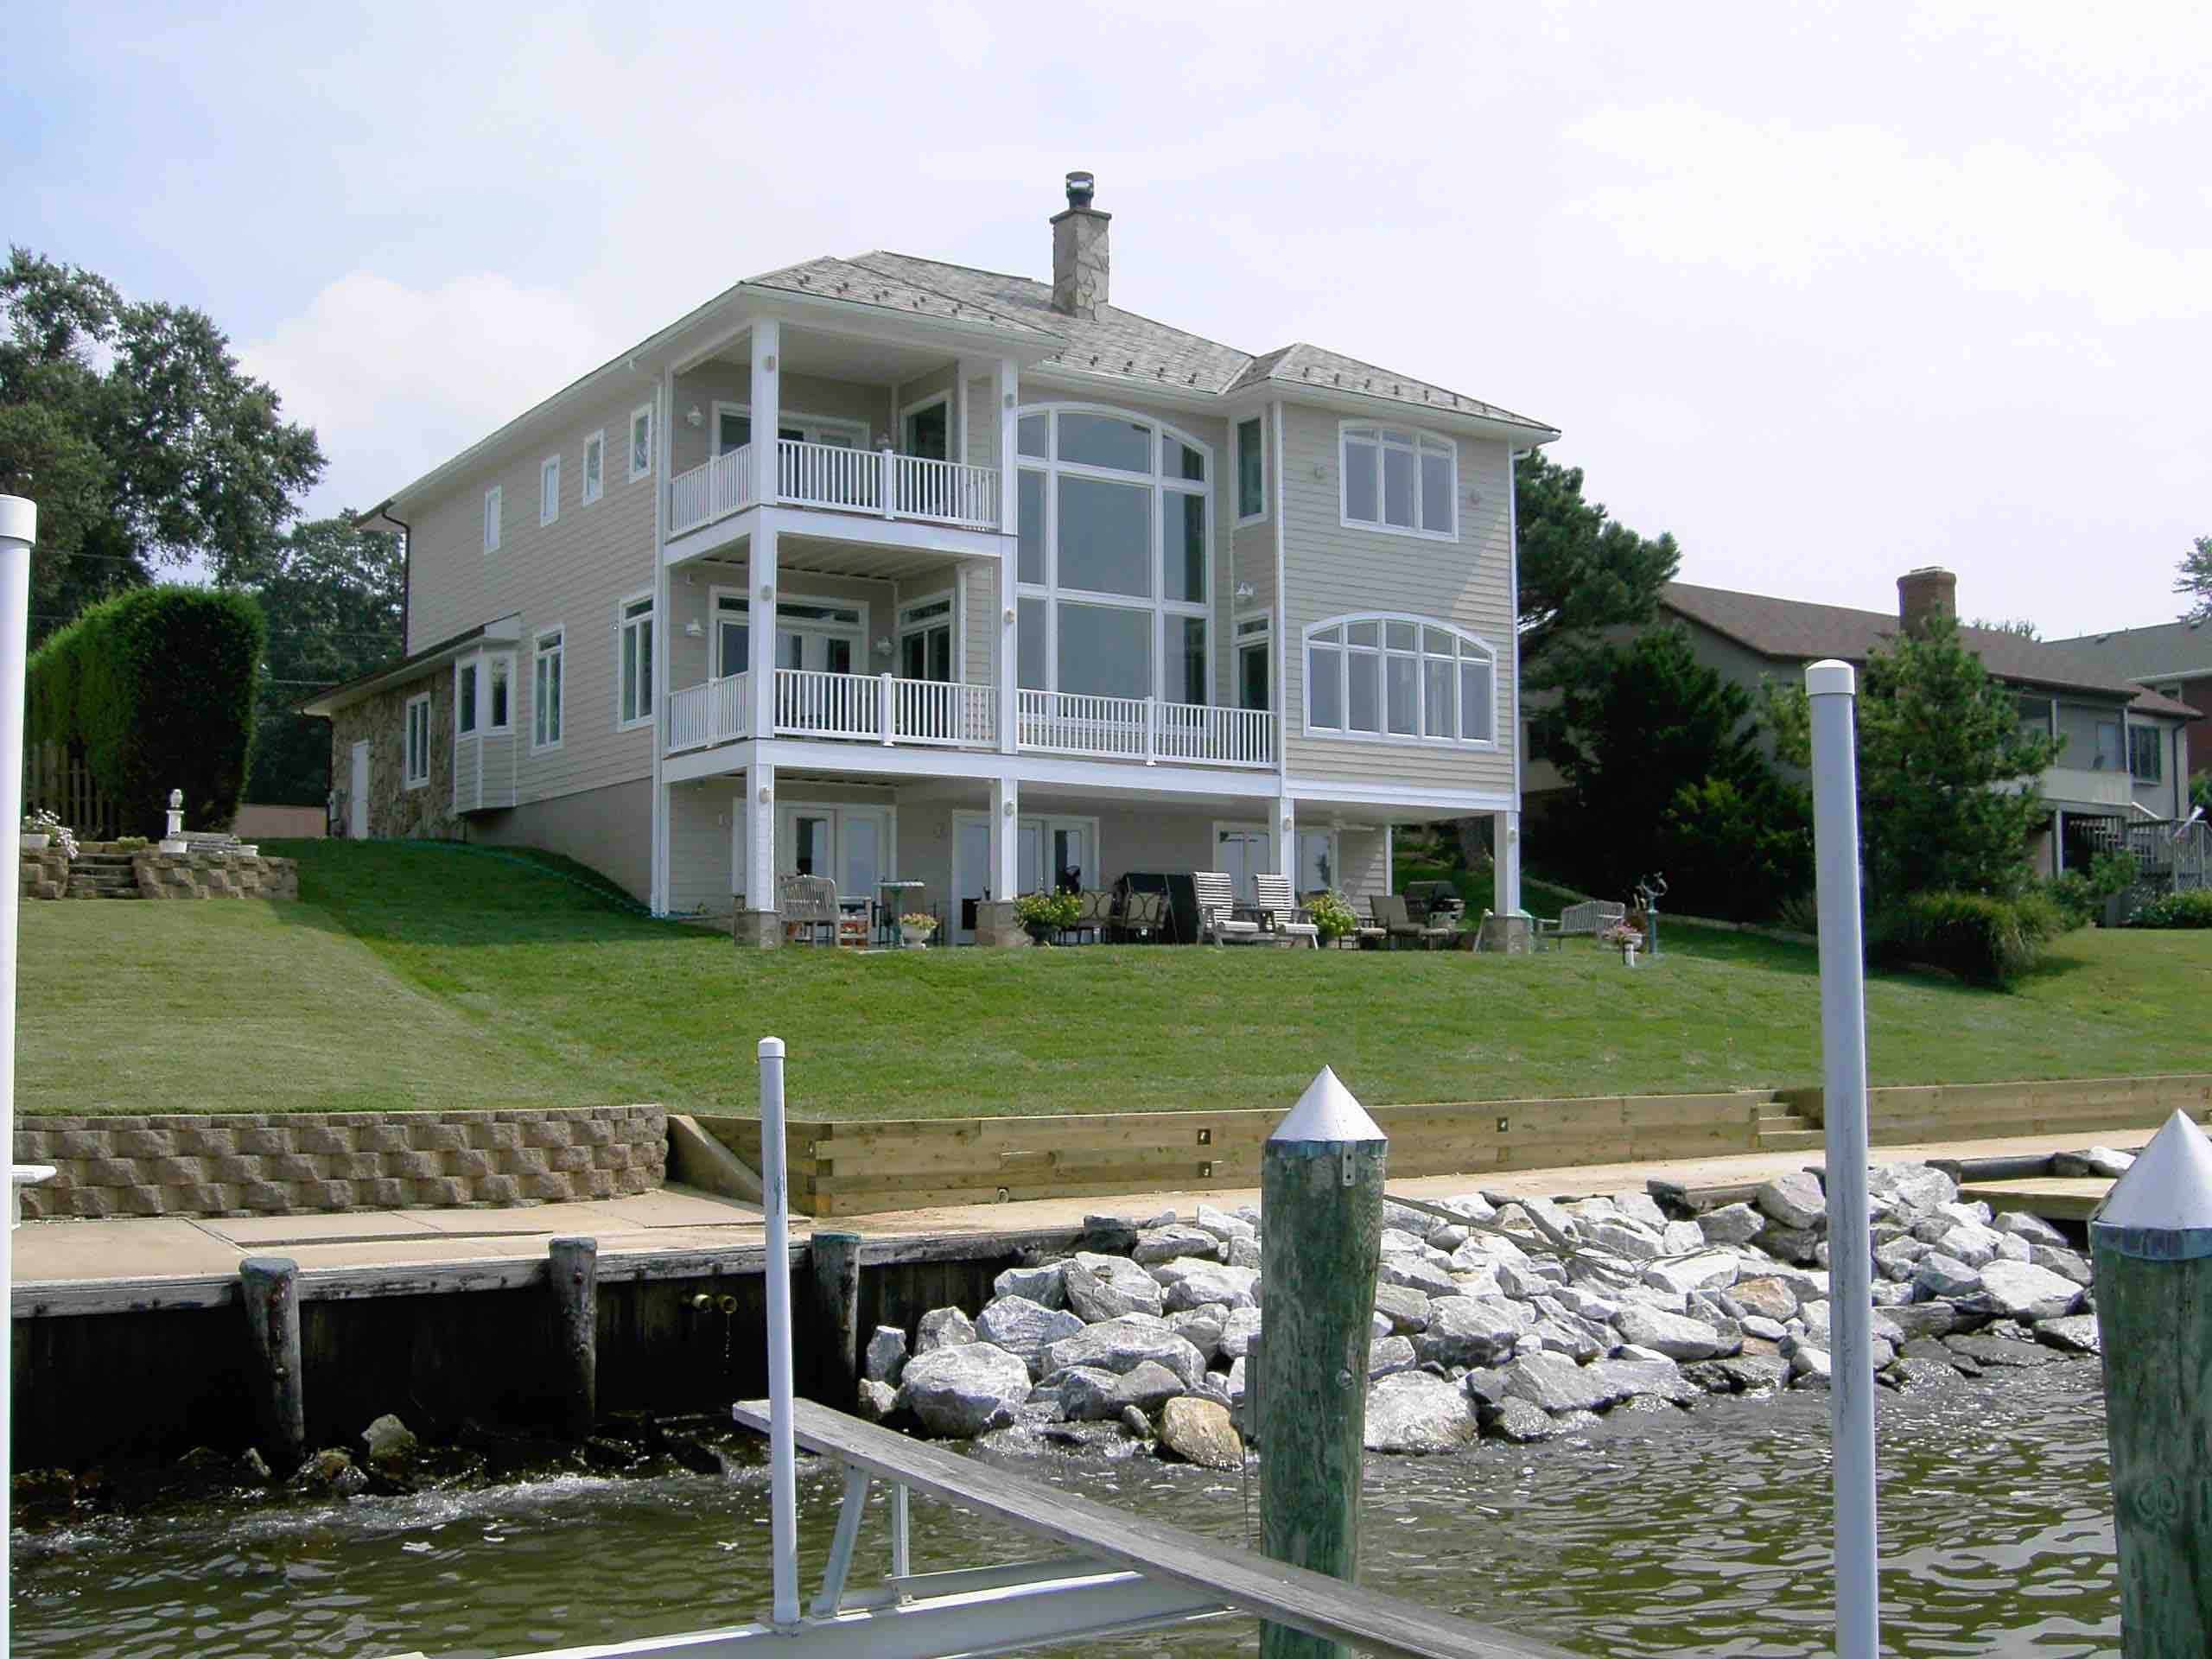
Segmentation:
{"type": "MultiPolygon", "coordinates": [[[[1798,681],[1823,657],[1865,666],[1931,615],[1958,617],[1958,577],[1922,568],[1898,577],[1898,611],[1772,599],[1688,582],[1659,593],[1659,622],[1677,624],[1708,668],[1759,692],[1761,681],[1798,681]]],[[[2104,847],[2130,838],[2128,825],[2185,818],[2188,726],[2194,710],[2130,684],[2086,659],[2070,641],[2037,641],[2002,628],[1960,628],[1960,641],[2020,697],[2020,719],[2064,739],[2039,790],[2051,825],[2035,849],[2051,874],[2088,867],[2104,847]]],[[[1559,790],[1555,768],[1531,765],[1526,794],[1542,807],[1559,790]]]]}

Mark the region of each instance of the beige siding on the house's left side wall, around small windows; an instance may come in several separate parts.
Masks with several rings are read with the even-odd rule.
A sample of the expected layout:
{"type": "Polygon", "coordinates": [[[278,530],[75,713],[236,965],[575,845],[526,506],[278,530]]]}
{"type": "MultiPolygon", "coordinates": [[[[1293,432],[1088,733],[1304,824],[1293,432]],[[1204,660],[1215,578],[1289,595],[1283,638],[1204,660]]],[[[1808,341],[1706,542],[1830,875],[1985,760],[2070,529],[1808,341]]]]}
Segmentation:
{"type": "MultiPolygon", "coordinates": [[[[630,482],[630,411],[648,376],[580,409],[555,434],[518,438],[482,469],[400,515],[416,526],[407,646],[418,650],[495,617],[520,615],[515,644],[515,803],[599,790],[653,772],[653,728],[615,730],[617,604],[653,591],[653,480],[630,482]],[[606,431],[599,500],[584,504],[584,438],[606,431]],[[560,453],[560,515],[538,522],[538,469],[560,453]],[[482,551],[484,491],[502,491],[500,546],[482,551]],[[533,754],[531,648],[560,626],[562,745],[533,754]]],[[[666,630],[664,630],[666,633],[666,630]]],[[[661,641],[657,639],[655,646],[661,641]]],[[[644,821],[637,830],[646,841],[644,821]]]]}

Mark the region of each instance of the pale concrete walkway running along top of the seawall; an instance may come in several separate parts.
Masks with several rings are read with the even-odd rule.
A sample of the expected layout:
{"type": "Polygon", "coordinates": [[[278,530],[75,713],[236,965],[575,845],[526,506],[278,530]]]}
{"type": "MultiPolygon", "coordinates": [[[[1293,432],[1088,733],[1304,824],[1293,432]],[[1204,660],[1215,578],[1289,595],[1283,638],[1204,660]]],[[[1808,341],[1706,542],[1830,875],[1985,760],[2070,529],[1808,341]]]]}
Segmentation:
{"type": "MultiPolygon", "coordinates": [[[[2106,1133],[2101,1137],[2013,1137],[1989,1141],[1931,1141],[1922,1146],[1878,1146],[1876,1164],[1913,1159],[2015,1157],[2079,1150],[2093,1139],[2135,1150],[2152,1130],[2106,1133]]],[[[1590,1192],[1644,1190],[1648,1179],[1681,1186],[1736,1186],[1765,1181],[1787,1170],[1818,1166],[1816,1152],[1736,1152],[1728,1157],[1661,1164],[1590,1164],[1566,1170],[1515,1170],[1486,1175],[1427,1175],[1391,1181],[1391,1192],[1449,1197],[1453,1192],[1517,1192],[1526,1197],[1582,1197],[1590,1192]]],[[[872,1239],[960,1237],[1079,1228],[1086,1214],[1146,1219],[1161,1210],[1188,1214],[1199,1203],[1234,1208],[1259,1203],[1256,1188],[1208,1192],[1124,1192],[1086,1199],[1035,1199],[1024,1203],[975,1203],[938,1210],[898,1210],[812,1223],[792,1219],[792,1237],[805,1239],[814,1225],[858,1232],[872,1239]]],[[[595,1203],[540,1203],[518,1210],[369,1210],[310,1217],[230,1219],[122,1219],[122,1221],[27,1221],[15,1232],[15,1285],[84,1285],[113,1279],[206,1279],[234,1274],[246,1256],[290,1256],[305,1272],[334,1267],[409,1267],[434,1263],[542,1261],[555,1234],[586,1234],[599,1254],[657,1254],[721,1250],[761,1241],[761,1210],[690,1188],[641,1192],[595,1203]]]]}

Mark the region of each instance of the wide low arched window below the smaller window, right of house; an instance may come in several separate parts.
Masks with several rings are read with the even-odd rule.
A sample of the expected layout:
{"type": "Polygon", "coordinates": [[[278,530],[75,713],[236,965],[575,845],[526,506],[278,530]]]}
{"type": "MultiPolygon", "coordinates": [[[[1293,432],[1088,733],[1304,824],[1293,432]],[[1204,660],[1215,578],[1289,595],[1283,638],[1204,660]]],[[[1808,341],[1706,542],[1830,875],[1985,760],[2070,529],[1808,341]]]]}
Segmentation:
{"type": "Polygon", "coordinates": [[[1305,730],[1385,743],[1498,743],[1498,653],[1431,617],[1385,611],[1305,630],[1305,730]]]}

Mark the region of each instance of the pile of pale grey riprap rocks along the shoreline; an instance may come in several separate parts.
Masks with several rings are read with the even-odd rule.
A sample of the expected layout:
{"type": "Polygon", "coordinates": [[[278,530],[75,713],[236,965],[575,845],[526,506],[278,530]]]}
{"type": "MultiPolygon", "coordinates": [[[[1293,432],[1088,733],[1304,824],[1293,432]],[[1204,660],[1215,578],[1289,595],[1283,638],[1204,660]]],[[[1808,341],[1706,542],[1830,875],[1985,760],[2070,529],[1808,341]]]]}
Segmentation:
{"type": "MultiPolygon", "coordinates": [[[[1686,1214],[1679,1190],[1389,1201],[1367,1345],[1367,1447],[1453,1451],[1588,1433],[1606,1411],[1825,1389],[1827,1199],[1814,1172],[1686,1214]]],[[[1869,1179],[1885,1387],[2097,1352],[2088,1259],[2022,1212],[1960,1203],[1927,1164],[1869,1179]]],[[[1099,1219],[1128,1252],[1009,1267],[975,1310],[878,1327],[860,1409],[942,1438],[1157,1451],[1234,1469],[1263,1334],[1259,1212],[1099,1219]],[[1239,1433],[1241,1431],[1241,1433],[1239,1433]]]]}

